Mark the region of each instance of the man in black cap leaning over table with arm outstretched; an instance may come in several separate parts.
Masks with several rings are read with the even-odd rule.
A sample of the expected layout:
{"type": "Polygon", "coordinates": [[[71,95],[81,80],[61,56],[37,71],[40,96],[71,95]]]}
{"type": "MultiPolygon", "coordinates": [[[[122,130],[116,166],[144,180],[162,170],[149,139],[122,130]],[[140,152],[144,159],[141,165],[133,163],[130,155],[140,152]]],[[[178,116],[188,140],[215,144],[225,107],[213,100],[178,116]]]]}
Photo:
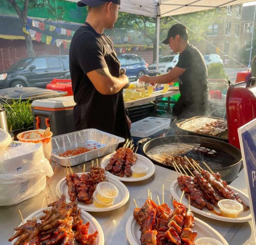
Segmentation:
{"type": "Polygon", "coordinates": [[[166,84],[179,78],[180,98],[173,107],[178,118],[190,118],[207,114],[209,95],[207,67],[202,54],[188,42],[188,32],[182,24],[173,25],[163,41],[173,52],[179,52],[177,65],[168,73],[156,76],[142,76],[140,81],[166,84]]]}

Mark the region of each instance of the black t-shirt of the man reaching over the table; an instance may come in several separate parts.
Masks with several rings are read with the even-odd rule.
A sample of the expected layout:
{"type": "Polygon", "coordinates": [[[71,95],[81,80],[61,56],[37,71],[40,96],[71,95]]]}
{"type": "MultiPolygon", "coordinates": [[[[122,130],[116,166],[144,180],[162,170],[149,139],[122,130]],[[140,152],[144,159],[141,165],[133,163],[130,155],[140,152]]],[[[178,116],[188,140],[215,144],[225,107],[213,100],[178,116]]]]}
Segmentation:
{"type": "Polygon", "coordinates": [[[179,77],[183,104],[190,108],[198,108],[207,104],[209,101],[207,67],[199,50],[188,45],[179,55],[176,66],[186,69],[179,77]]]}

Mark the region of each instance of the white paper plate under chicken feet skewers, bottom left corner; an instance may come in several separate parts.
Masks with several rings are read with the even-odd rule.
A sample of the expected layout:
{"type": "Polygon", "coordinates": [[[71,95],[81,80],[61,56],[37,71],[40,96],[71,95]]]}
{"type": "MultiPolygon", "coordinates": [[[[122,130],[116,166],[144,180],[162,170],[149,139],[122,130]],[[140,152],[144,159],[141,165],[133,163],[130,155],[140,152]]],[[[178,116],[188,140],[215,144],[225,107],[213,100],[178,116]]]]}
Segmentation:
{"type": "MultiPolygon", "coordinates": [[[[25,218],[24,221],[27,222],[27,220],[32,219],[33,217],[37,217],[37,222],[39,223],[40,222],[39,217],[45,215],[43,213],[43,210],[45,210],[45,209],[47,209],[47,207],[41,208],[41,209],[35,211],[33,214],[30,214],[27,218],[25,218]]],[[[98,221],[94,217],[92,217],[90,214],[85,212],[84,210],[81,210],[81,218],[83,219],[83,224],[85,224],[88,221],[90,222],[88,234],[93,234],[95,231],[98,231],[95,245],[103,245],[104,244],[104,234],[103,234],[102,228],[101,228],[100,224],[98,223],[98,221]]],[[[21,225],[22,225],[22,222],[19,224],[19,226],[21,226],[21,225]]],[[[14,239],[11,244],[15,243],[16,240],[17,240],[17,238],[14,239]]],[[[79,245],[79,244],[77,242],[75,242],[75,245],[79,245]]]]}

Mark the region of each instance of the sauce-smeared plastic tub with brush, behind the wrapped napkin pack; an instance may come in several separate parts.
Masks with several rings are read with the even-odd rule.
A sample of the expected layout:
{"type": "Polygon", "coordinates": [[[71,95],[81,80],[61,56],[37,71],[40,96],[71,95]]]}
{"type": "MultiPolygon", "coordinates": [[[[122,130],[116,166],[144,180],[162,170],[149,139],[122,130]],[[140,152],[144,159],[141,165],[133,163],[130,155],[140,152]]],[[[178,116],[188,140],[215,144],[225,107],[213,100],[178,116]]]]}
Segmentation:
{"type": "Polygon", "coordinates": [[[44,136],[44,131],[43,129],[28,130],[18,134],[17,138],[21,142],[42,144],[44,156],[51,163],[53,133],[49,131],[48,135],[44,136]]]}

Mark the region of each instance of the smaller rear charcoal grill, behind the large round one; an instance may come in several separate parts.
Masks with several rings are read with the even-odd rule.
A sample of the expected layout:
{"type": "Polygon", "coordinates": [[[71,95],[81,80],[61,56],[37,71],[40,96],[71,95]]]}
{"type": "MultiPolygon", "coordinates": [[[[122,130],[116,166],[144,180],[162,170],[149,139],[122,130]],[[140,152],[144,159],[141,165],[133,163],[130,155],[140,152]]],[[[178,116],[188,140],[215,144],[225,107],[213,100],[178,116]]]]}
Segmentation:
{"type": "Polygon", "coordinates": [[[228,130],[226,129],[225,131],[217,134],[216,136],[209,135],[209,134],[203,134],[196,132],[196,130],[200,129],[201,127],[205,127],[206,123],[211,123],[215,122],[217,120],[223,121],[227,125],[227,120],[223,118],[218,118],[218,117],[210,117],[210,116],[197,116],[197,117],[192,117],[186,120],[183,120],[181,122],[177,122],[176,126],[177,128],[190,135],[198,135],[198,136],[206,136],[206,137],[211,137],[214,139],[220,139],[220,140],[228,140],[228,130]]]}

